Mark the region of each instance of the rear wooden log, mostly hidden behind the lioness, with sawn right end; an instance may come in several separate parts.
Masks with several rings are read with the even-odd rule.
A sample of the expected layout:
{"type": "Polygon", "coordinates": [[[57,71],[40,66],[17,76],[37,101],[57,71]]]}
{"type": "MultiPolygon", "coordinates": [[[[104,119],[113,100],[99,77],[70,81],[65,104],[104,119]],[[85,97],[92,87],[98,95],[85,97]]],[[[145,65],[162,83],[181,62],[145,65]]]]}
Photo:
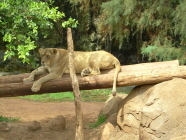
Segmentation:
{"type": "MultiPolygon", "coordinates": [[[[151,62],[151,63],[140,63],[134,65],[125,65],[121,67],[121,72],[131,72],[131,71],[144,71],[149,69],[158,69],[160,67],[172,67],[179,66],[178,60],[173,61],[164,61],[164,62],[151,62]]],[[[115,69],[102,70],[102,74],[110,74],[114,73],[115,69]]],[[[7,75],[0,76],[0,84],[1,83],[22,83],[24,78],[29,77],[30,73],[18,74],[18,75],[7,75]]],[[[80,76],[77,74],[77,76],[80,76]]],[[[35,80],[39,79],[41,76],[36,76],[35,80]]],[[[69,74],[64,74],[63,78],[70,78],[69,74]]]]}

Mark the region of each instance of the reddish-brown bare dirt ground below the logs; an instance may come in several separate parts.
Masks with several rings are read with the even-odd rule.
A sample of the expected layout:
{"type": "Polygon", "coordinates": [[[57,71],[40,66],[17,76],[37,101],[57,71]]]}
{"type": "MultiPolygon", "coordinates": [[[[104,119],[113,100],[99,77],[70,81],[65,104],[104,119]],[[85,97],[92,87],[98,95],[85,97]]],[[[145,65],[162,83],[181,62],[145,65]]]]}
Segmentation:
{"type": "MultiPolygon", "coordinates": [[[[84,116],[85,140],[97,140],[99,128],[89,128],[90,123],[97,120],[103,102],[82,102],[84,116]]],[[[0,116],[18,117],[18,122],[8,123],[11,130],[0,132],[0,140],[74,140],[75,138],[75,106],[74,102],[34,102],[23,99],[0,98],[0,116]],[[53,131],[48,127],[52,118],[63,115],[66,128],[53,131]],[[28,130],[30,121],[39,121],[41,129],[28,130]]]]}

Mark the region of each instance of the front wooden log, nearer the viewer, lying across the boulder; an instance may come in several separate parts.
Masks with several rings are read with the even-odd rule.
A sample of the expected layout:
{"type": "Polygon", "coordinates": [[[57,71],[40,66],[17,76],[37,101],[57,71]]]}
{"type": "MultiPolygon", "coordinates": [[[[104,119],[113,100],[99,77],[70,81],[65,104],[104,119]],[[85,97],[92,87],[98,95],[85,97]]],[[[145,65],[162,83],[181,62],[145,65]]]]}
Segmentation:
{"type": "MultiPolygon", "coordinates": [[[[78,77],[81,90],[111,88],[114,73],[98,76],[78,77]]],[[[118,75],[117,87],[155,84],[171,80],[175,77],[186,78],[186,66],[169,66],[143,71],[121,72],[118,75]]],[[[30,83],[5,83],[0,84],[0,97],[23,96],[31,94],[55,93],[72,91],[70,78],[60,78],[46,82],[41,90],[31,91],[33,82],[30,83]]]]}

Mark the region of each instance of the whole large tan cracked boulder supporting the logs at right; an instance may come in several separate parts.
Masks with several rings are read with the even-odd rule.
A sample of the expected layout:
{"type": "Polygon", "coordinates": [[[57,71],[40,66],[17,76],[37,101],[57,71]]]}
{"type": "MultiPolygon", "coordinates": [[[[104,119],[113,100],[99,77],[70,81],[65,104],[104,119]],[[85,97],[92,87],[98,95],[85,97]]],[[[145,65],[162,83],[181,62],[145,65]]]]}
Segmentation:
{"type": "Polygon", "coordinates": [[[139,140],[170,140],[186,135],[185,91],[186,80],[181,78],[135,87],[119,105],[120,129],[135,140],[136,136],[139,140]]]}

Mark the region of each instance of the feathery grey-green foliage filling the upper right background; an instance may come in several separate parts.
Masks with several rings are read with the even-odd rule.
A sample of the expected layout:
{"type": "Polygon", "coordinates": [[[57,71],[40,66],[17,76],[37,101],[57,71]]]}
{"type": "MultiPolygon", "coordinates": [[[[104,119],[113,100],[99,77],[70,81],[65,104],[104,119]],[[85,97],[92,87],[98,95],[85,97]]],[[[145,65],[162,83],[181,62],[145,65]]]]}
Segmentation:
{"type": "Polygon", "coordinates": [[[179,59],[186,64],[185,14],[184,0],[111,0],[102,4],[105,21],[100,25],[108,26],[105,34],[112,32],[121,44],[142,32],[142,54],[149,60],[179,59]]]}

